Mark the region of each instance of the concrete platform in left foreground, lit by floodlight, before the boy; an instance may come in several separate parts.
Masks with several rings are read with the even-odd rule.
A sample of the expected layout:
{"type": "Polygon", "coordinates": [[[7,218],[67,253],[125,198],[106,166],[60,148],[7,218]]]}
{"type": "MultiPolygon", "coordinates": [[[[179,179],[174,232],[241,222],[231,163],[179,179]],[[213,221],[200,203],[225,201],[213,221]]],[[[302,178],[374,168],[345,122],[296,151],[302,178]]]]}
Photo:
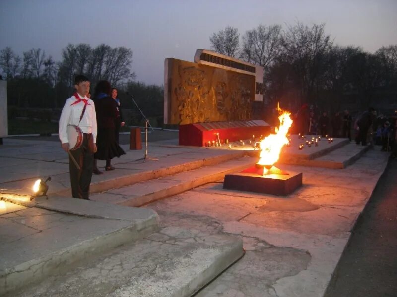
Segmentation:
{"type": "Polygon", "coordinates": [[[12,207],[0,212],[0,296],[159,229],[157,213],[145,208],[62,197],[2,199],[12,207]]]}

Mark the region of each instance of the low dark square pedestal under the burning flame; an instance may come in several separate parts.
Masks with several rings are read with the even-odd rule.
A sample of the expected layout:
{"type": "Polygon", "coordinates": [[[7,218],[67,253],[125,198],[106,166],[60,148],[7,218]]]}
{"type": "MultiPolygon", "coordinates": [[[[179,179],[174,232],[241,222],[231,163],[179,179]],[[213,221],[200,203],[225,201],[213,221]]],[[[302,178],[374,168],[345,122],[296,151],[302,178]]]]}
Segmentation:
{"type": "Polygon", "coordinates": [[[285,196],[302,186],[302,172],[265,175],[257,172],[258,169],[252,167],[239,173],[226,174],[223,188],[285,196]]]}

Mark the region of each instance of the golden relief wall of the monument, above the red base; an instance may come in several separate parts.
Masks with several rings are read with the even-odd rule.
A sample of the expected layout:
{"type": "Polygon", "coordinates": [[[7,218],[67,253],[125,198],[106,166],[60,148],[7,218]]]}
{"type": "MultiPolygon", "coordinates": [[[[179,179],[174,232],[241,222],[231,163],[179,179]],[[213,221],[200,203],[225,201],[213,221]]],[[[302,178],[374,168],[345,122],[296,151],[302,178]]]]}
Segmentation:
{"type": "Polygon", "coordinates": [[[173,58],[165,76],[166,124],[251,119],[255,76],[173,58]]]}

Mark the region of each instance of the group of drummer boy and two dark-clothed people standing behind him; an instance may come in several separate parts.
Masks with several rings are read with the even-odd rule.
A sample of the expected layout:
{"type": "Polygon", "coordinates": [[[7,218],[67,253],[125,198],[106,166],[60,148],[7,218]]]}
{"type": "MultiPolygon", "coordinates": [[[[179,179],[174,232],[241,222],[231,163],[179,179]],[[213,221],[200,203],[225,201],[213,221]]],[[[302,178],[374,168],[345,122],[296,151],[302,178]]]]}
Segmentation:
{"type": "Polygon", "coordinates": [[[108,81],[100,81],[90,96],[90,81],[84,75],[77,75],[74,81],[76,92],[66,99],[59,121],[61,147],[69,154],[69,174],[72,197],[89,200],[92,174],[103,174],[97,167],[97,160],[105,160],[105,170],[114,157],[125,154],[119,145],[119,130],[124,126],[117,89],[108,81]],[[74,126],[81,132],[79,146],[70,147],[68,127],[74,126]]]}

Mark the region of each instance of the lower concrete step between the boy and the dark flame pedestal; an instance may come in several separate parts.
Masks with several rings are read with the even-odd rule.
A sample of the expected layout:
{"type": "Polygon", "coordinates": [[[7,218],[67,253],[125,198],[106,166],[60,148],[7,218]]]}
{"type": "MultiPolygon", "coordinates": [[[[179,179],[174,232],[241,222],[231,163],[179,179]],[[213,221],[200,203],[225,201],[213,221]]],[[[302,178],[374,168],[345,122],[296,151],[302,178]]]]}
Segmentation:
{"type": "Polygon", "coordinates": [[[90,199],[138,207],[207,183],[216,182],[223,179],[225,174],[244,170],[252,166],[256,161],[257,158],[239,158],[221,164],[135,183],[132,186],[111,189],[104,193],[92,194],[90,199]]]}

